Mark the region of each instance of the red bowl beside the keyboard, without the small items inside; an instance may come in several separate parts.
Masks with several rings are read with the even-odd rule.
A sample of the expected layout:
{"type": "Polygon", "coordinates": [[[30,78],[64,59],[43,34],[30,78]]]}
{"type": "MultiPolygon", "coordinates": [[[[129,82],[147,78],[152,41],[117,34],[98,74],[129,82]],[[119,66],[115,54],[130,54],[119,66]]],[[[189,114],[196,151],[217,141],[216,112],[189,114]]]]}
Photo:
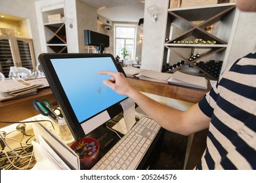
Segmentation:
{"type": "Polygon", "coordinates": [[[80,169],[81,168],[85,168],[85,167],[89,167],[90,165],[93,165],[93,163],[95,162],[97,156],[98,156],[98,151],[100,149],[100,143],[96,140],[93,139],[91,137],[84,137],[83,139],[81,139],[80,141],[75,141],[70,148],[72,148],[72,150],[75,151],[75,149],[77,148],[77,146],[79,146],[79,144],[83,143],[83,142],[87,142],[87,143],[91,143],[91,142],[95,142],[96,145],[96,152],[93,153],[93,155],[89,156],[89,157],[85,157],[85,158],[80,158],[80,169]]]}

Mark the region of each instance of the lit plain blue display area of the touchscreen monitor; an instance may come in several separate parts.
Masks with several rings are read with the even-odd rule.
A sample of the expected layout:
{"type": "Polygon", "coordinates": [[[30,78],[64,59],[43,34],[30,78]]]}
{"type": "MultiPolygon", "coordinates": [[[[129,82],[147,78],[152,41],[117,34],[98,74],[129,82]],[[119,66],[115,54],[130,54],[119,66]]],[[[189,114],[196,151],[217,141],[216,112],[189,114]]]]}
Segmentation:
{"type": "Polygon", "coordinates": [[[117,71],[110,57],[58,58],[51,62],[79,123],[126,98],[102,83],[110,76],[98,75],[99,71],[117,71]]]}

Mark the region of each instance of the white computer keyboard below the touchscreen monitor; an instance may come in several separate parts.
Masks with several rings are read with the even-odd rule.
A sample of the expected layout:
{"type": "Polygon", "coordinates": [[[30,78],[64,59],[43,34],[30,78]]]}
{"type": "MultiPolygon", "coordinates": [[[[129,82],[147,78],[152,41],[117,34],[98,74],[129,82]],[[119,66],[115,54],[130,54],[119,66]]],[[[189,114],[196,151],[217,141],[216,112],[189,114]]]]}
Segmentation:
{"type": "Polygon", "coordinates": [[[154,120],[143,116],[142,119],[93,166],[92,169],[136,169],[159,130],[160,125],[156,124],[154,120]]]}

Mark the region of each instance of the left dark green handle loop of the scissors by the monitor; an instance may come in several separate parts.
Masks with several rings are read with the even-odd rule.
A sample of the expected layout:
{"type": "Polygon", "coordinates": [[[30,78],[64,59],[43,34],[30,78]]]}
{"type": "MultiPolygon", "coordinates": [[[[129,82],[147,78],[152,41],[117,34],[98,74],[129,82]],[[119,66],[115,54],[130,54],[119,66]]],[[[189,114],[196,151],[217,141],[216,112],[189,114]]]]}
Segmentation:
{"type": "Polygon", "coordinates": [[[35,109],[43,116],[49,116],[51,119],[53,119],[54,122],[58,123],[58,116],[53,112],[53,110],[50,110],[43,102],[34,100],[33,107],[35,107],[35,109]]]}

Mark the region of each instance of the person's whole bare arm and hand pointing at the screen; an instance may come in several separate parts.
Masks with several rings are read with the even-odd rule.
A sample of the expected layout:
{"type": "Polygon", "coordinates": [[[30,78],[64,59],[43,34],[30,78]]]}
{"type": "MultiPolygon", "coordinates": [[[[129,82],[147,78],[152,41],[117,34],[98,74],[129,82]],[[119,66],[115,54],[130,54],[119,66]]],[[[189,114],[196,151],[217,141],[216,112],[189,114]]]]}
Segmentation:
{"type": "Polygon", "coordinates": [[[190,135],[209,127],[210,119],[203,114],[198,104],[186,111],[177,110],[162,105],[132,88],[122,73],[102,71],[100,75],[112,76],[109,80],[103,81],[106,86],[120,95],[127,95],[133,99],[150,118],[169,131],[190,135]]]}

